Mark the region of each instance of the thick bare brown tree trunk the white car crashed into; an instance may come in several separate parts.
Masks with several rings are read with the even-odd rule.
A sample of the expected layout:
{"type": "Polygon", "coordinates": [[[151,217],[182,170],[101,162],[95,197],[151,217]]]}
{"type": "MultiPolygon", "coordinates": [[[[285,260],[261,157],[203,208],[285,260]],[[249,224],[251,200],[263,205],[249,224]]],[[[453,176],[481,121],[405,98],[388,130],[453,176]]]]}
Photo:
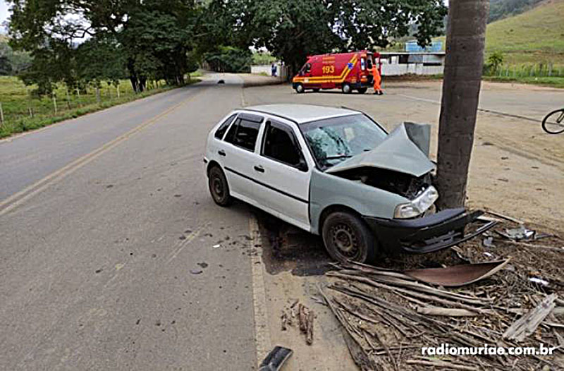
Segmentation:
{"type": "Polygon", "coordinates": [[[450,1],[439,118],[438,207],[460,207],[472,145],[486,37],[489,0],[450,1]]]}

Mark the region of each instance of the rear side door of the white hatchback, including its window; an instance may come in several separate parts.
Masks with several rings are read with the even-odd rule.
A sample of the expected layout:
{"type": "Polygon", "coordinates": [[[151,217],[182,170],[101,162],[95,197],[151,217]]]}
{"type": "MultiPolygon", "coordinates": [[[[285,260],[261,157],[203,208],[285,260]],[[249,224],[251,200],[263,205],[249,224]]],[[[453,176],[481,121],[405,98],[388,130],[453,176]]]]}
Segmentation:
{"type": "Polygon", "coordinates": [[[231,194],[247,202],[255,200],[253,177],[257,171],[253,169],[253,164],[258,157],[255,147],[263,119],[259,115],[239,114],[223,140],[223,148],[219,150],[231,194]]]}

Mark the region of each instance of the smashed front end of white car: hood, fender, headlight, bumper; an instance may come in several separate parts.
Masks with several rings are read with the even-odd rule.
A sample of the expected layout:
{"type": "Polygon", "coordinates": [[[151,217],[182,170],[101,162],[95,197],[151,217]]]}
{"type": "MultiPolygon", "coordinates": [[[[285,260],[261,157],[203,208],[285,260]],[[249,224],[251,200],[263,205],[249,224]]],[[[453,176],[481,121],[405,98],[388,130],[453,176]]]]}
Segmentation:
{"type": "Polygon", "coordinates": [[[312,201],[317,205],[331,200],[357,211],[374,232],[379,248],[387,253],[430,253],[467,241],[495,225],[480,219],[481,211],[457,208],[434,213],[439,198],[431,182],[434,169],[402,125],[374,150],[313,176],[312,201]],[[343,184],[345,180],[349,183],[343,184]]]}

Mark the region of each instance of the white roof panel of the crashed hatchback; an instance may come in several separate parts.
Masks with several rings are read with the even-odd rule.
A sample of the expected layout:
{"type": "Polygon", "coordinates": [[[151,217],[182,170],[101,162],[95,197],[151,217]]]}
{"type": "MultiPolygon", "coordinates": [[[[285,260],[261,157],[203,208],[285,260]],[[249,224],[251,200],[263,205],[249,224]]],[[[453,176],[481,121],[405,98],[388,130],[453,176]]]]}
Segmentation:
{"type": "Polygon", "coordinates": [[[262,114],[271,114],[286,118],[295,123],[307,123],[309,121],[322,120],[339,116],[350,116],[359,114],[347,108],[316,106],[314,104],[262,104],[243,108],[245,111],[255,111],[262,114]]]}

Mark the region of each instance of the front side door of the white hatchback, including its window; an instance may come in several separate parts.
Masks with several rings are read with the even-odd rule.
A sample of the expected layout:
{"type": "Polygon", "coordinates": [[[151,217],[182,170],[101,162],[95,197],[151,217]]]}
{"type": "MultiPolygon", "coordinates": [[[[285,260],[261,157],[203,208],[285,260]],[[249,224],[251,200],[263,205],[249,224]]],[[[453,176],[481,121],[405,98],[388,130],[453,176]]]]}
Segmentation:
{"type": "Polygon", "coordinates": [[[267,119],[260,156],[254,163],[256,198],[267,211],[309,231],[311,167],[292,127],[267,119]]]}

